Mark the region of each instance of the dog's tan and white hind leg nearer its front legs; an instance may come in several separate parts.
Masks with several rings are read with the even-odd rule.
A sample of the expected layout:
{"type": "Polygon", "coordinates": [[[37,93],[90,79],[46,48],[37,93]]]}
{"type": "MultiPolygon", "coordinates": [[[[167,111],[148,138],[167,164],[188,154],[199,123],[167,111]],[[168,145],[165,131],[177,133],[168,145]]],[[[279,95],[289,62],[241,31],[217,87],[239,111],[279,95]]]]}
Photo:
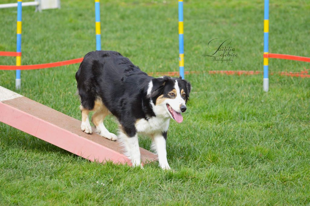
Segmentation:
{"type": "Polygon", "coordinates": [[[96,133],[107,139],[116,141],[117,136],[110,133],[103,124],[104,118],[109,114],[107,107],[105,107],[100,100],[96,100],[94,109],[95,113],[91,117],[91,121],[96,127],[96,133]]]}

